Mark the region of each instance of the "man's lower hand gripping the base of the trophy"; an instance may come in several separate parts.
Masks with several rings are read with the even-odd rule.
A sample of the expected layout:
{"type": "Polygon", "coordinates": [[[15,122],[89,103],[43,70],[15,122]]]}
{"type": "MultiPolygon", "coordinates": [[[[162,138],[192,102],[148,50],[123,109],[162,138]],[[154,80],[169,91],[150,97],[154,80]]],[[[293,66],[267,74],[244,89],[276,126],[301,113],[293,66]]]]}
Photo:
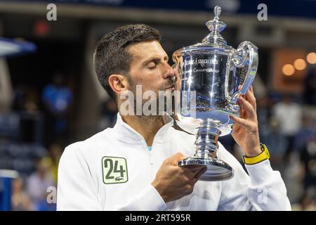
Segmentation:
{"type": "Polygon", "coordinates": [[[178,162],[184,158],[183,154],[176,153],[164,160],[152,181],[152,186],[156,188],[165,203],[190,195],[199,177],[206,171],[204,166],[195,169],[178,167],[178,162]]]}

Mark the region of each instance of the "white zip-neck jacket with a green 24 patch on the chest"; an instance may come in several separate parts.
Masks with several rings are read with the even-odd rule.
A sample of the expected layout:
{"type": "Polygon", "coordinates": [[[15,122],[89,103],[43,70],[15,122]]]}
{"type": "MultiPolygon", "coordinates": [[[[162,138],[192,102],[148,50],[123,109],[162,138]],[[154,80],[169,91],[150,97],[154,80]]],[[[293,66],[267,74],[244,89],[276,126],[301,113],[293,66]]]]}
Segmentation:
{"type": "Polygon", "coordinates": [[[162,162],[195,153],[195,136],[166,116],[149,151],[143,136],[117,124],[65,148],[58,168],[57,210],[291,210],[287,189],[269,160],[242,165],[220,143],[218,158],[234,168],[228,181],[197,181],[194,191],[164,203],[151,185],[162,162]]]}

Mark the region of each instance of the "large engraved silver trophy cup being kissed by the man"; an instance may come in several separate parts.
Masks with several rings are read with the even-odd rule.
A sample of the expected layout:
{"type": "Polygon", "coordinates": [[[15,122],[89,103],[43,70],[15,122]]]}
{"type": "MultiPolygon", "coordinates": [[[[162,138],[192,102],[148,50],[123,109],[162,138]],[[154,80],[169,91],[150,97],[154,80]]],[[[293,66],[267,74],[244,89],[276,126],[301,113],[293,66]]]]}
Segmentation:
{"type": "Polygon", "coordinates": [[[220,11],[219,6],[214,8],[215,17],[206,23],[211,33],[202,43],[173,53],[178,91],[176,117],[196,125],[196,153],[178,165],[206,166],[202,181],[234,176],[232,167],[216,156],[217,139],[232,131],[234,122],[229,115],[239,117],[238,96],[249,90],[258,68],[258,49],[254,44],[244,41],[234,49],[223,39],[220,32],[226,25],[218,18],[220,11]]]}

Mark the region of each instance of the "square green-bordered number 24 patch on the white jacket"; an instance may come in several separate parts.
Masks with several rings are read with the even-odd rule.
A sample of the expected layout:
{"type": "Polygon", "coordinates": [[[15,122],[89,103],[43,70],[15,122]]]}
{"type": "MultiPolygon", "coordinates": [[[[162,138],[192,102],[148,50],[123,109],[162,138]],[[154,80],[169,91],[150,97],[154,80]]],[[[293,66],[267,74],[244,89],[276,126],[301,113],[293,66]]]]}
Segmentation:
{"type": "Polygon", "coordinates": [[[120,184],[129,180],[125,158],[103,157],[102,172],[104,184],[120,184]]]}

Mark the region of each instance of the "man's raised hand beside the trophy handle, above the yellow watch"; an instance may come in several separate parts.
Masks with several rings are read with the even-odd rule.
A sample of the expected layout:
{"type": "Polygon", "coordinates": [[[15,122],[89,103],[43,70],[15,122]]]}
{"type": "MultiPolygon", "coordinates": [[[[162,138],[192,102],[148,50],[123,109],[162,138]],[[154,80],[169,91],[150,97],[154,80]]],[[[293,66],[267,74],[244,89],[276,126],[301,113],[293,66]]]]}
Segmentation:
{"type": "MultiPolygon", "coordinates": [[[[241,86],[239,86],[239,89],[241,86]]],[[[244,148],[244,153],[248,157],[253,157],[261,153],[258,120],[256,114],[256,98],[252,86],[243,98],[239,97],[240,118],[230,115],[235,121],[232,126],[232,137],[239,146],[244,148]]]]}

